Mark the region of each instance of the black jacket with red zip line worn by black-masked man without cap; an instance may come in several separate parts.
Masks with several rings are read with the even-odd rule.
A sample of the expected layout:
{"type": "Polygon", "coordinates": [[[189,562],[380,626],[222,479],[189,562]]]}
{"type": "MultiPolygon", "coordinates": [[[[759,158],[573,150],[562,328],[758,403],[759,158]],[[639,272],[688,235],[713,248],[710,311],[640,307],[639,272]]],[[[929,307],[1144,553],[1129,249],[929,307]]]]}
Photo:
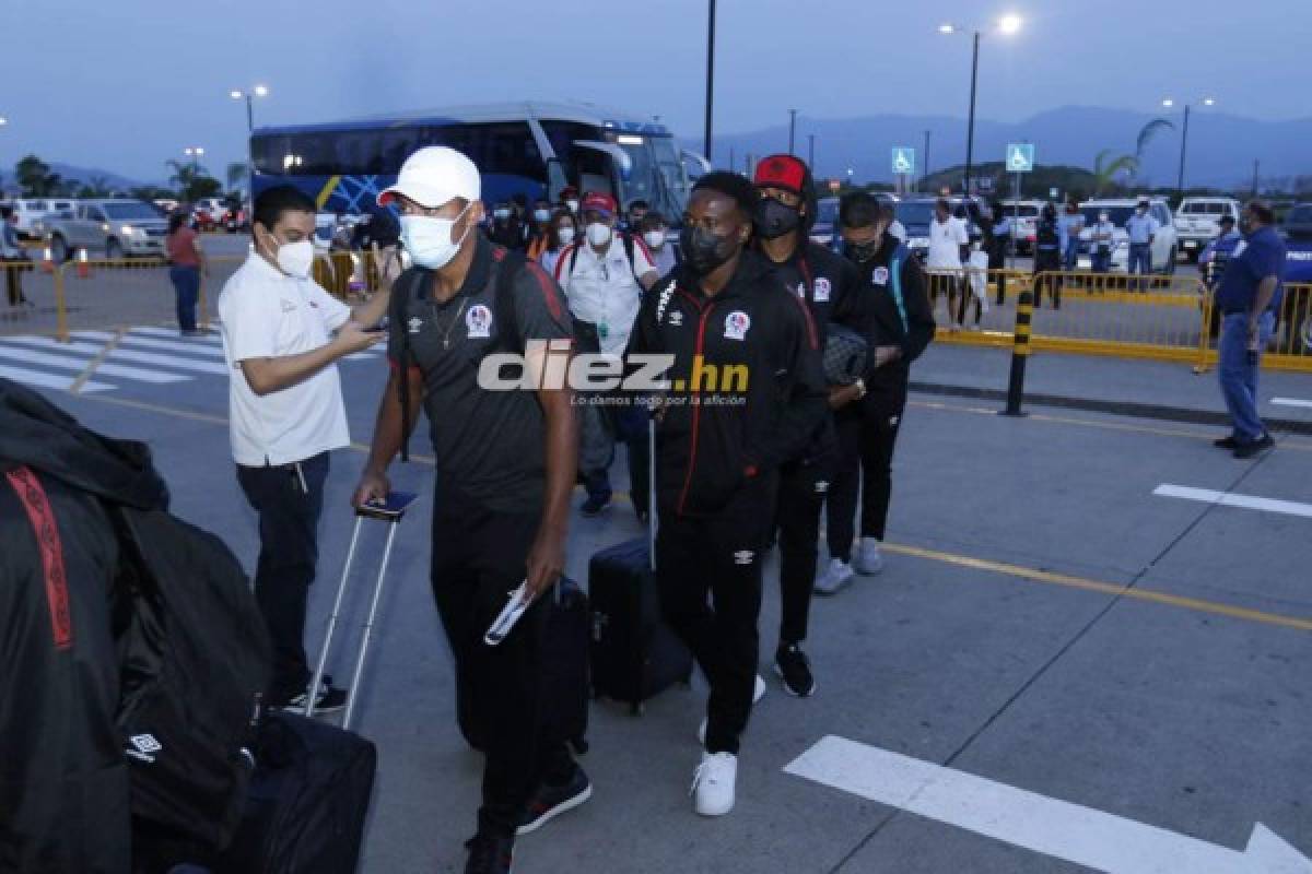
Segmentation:
{"type": "Polygon", "coordinates": [[[754,252],[714,297],[686,263],[670,271],[643,296],[628,352],[674,356],[656,432],[661,512],[719,511],[800,456],[828,410],[811,314],[754,252]]]}

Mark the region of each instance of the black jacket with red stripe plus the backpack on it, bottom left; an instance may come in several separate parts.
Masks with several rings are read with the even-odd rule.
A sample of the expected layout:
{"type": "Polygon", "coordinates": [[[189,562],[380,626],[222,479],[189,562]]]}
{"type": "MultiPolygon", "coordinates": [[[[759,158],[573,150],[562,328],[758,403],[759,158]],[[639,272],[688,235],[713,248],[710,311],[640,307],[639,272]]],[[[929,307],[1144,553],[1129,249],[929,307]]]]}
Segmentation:
{"type": "Polygon", "coordinates": [[[0,871],[226,843],[269,663],[240,565],[168,515],[143,444],[3,379],[0,473],[0,871]]]}

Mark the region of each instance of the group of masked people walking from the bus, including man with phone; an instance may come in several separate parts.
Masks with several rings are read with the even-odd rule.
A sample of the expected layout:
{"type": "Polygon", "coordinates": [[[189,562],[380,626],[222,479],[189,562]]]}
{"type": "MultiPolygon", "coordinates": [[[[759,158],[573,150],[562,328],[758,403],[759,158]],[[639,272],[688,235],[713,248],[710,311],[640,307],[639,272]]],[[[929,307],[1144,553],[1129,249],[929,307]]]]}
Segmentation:
{"type": "Polygon", "coordinates": [[[506,591],[523,580],[538,595],[563,573],[575,487],[584,485],[583,515],[605,511],[618,444],[638,519],[657,525],[661,612],[710,685],[694,806],[727,814],[765,688],[757,626],[771,544],[783,604],[773,668],[799,697],[816,691],[803,649],[812,594],[833,595],[883,566],[908,368],[934,334],[925,274],[888,233],[890,206],[848,197],[838,256],[810,237],[810,168],[777,155],[752,180],[702,177],[676,244],[665,216],[642,202],[621,210],[602,191],[567,189],[531,212],[526,202],[493,204],[488,216],[478,169],[445,147],[412,155],[379,206],[400,214],[413,266],[366,305],[352,311],[308,279],[314,203],[291,187],[256,199],[255,252],[219,299],[237,481],[260,518],[255,591],[277,655],[270,698],[302,708],[312,697],[331,712],[346,697],[331,680],[310,688],[306,603],[329,455],[349,443],[335,362],[386,339],[391,376],[354,502],[388,494],[387,468],[424,410],[442,485],[430,582],[455,656],[462,729],[482,727],[485,753],[466,870],[509,871],[518,833],[590,797],[537,708],[537,638],[512,634],[497,647],[482,638],[506,591]],[[384,313],[387,333],[371,330],[384,313]],[[850,379],[834,381],[825,366],[830,332],[863,349],[850,379]],[[622,363],[664,355],[668,385],[686,390],[586,404],[568,385],[491,390],[479,381],[493,351],[525,354],[541,371],[534,349],[562,342],[622,363]],[[701,379],[735,366],[747,368],[743,384],[701,379]],[[652,491],[659,519],[646,511],[652,491]],[[827,504],[832,558],[817,577],[827,504]]]}

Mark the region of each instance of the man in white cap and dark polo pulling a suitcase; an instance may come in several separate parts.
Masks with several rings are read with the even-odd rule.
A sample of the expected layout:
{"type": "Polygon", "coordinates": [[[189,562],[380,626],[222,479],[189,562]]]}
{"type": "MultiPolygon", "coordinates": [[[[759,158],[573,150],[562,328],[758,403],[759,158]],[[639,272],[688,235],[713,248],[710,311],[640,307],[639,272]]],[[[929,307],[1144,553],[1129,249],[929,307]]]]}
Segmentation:
{"type": "Polygon", "coordinates": [[[564,569],[579,432],[568,388],[482,384],[483,359],[509,354],[525,356],[523,383],[541,387],[546,350],[567,358],[573,341],[556,283],[479,231],[480,187],[470,159],[434,145],[411,155],[378,198],[399,207],[415,267],[394,286],[392,373],[354,499],[387,494],[387,466],[422,404],[440,484],[433,596],[455,656],[461,729],[487,753],[464,870],[505,874],[516,835],[581,805],[592,785],[541,712],[551,705],[541,706],[550,655],[531,633],[538,603],[497,646],[483,642],[506,592],[521,582],[543,592],[564,569]]]}

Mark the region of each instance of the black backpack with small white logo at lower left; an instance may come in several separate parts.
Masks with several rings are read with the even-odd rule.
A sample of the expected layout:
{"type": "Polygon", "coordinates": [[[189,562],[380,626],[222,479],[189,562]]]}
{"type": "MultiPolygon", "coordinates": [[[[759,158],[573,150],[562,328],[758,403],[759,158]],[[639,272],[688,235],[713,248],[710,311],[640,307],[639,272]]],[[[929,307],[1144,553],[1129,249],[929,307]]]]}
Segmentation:
{"type": "Polygon", "coordinates": [[[163,510],[105,506],[119,542],[117,725],[134,831],[216,850],[236,831],[253,769],[247,748],[272,663],[265,621],[218,537],[163,510]]]}

